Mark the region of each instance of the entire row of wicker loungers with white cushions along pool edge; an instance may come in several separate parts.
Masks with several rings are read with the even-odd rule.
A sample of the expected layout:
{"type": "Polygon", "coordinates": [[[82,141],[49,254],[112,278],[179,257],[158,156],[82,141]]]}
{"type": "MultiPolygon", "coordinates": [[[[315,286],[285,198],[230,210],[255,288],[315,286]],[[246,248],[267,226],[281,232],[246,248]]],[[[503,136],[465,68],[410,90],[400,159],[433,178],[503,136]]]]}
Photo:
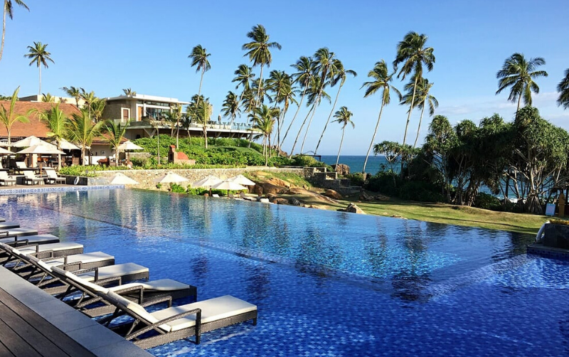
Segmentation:
{"type": "Polygon", "coordinates": [[[148,281],[147,267],[115,264],[105,252],[84,252],[78,243],[15,225],[0,218],[0,265],[137,346],[191,336],[200,343],[203,332],[249,320],[257,324],[257,307],[241,299],[225,295],[195,302],[196,287],[172,279],[148,281]],[[175,306],[182,298],[194,302],[175,306]],[[147,310],[156,304],[168,307],[147,310]],[[125,315],[127,322],[117,320],[125,315]]]}

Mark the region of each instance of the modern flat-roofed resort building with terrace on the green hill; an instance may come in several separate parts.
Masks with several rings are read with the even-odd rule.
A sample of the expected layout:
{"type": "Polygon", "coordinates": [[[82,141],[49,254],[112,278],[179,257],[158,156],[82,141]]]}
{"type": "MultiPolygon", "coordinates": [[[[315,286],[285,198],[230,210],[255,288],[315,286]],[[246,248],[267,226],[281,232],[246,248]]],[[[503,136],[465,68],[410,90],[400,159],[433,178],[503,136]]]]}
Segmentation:
{"type": "MultiPolygon", "coordinates": [[[[155,95],[119,95],[118,97],[107,98],[107,105],[102,117],[122,123],[131,119],[125,134],[127,139],[154,137],[156,132],[170,135],[176,132],[178,128],[176,128],[176,123],[166,122],[166,114],[175,107],[184,107],[188,104],[190,103],[182,102],[177,98],[155,95]]],[[[208,122],[207,127],[210,137],[248,137],[252,132],[257,132],[257,130],[252,129],[250,124],[222,122],[220,117],[217,121],[208,122]]],[[[203,126],[192,122],[185,125],[180,123],[179,135],[181,137],[201,137],[203,136],[203,126]]]]}

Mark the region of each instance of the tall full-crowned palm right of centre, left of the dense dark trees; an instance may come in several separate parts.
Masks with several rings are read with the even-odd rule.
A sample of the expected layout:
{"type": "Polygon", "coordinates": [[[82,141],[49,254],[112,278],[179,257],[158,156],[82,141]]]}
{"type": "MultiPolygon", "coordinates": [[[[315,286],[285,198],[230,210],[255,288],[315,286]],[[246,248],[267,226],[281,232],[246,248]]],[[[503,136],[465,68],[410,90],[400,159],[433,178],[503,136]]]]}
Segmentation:
{"type": "MultiPolygon", "coordinates": [[[[415,78],[410,110],[407,115],[407,123],[405,124],[405,134],[403,134],[403,145],[405,145],[405,140],[407,139],[411,112],[413,112],[413,108],[415,107],[415,89],[417,87],[417,81],[419,78],[422,78],[422,66],[425,65],[425,67],[427,67],[427,71],[430,72],[435,64],[435,55],[432,54],[433,48],[425,47],[427,38],[428,37],[423,33],[418,34],[413,31],[407,33],[403,38],[403,41],[398,43],[397,54],[393,61],[393,68],[397,68],[400,63],[403,63],[403,67],[399,70],[397,78],[401,77],[402,80],[405,80],[405,77],[411,73],[413,73],[415,78]]],[[[403,168],[403,161],[401,161],[401,165],[403,168]]]]}

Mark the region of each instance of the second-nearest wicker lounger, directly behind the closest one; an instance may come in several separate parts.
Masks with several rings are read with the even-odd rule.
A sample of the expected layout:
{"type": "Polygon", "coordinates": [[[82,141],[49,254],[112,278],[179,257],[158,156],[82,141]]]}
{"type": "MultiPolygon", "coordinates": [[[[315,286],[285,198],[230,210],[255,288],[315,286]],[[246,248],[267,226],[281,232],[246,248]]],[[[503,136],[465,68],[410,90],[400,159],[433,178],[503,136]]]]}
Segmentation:
{"type": "MultiPolygon", "coordinates": [[[[73,272],[63,270],[60,267],[52,268],[53,275],[58,277],[73,287],[75,291],[81,292],[78,299],[65,299],[68,292],[58,295],[59,299],[65,299],[65,303],[78,309],[90,317],[112,314],[116,307],[102,298],[109,292],[120,294],[127,299],[144,304],[147,302],[156,302],[160,299],[164,301],[165,297],[169,298],[169,306],[172,299],[180,299],[184,297],[192,297],[193,301],[197,298],[197,288],[172,279],[159,279],[151,282],[132,282],[122,284],[115,287],[102,287],[100,284],[94,284],[81,279],[73,272]]],[[[71,289],[73,291],[73,289],[71,289]]]]}

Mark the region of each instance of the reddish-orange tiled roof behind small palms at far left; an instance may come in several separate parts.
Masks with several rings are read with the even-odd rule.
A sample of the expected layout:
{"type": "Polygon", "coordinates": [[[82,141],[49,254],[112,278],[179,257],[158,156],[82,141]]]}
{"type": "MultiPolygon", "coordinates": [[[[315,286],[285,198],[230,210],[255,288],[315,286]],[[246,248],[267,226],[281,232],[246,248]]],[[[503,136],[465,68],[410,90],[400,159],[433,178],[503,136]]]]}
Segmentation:
{"type": "MultiPolygon", "coordinates": [[[[39,111],[47,111],[50,110],[55,104],[54,103],[38,103],[38,102],[16,102],[16,106],[14,110],[16,115],[26,115],[29,110],[36,109],[39,111]]],[[[10,107],[9,101],[0,100],[0,106],[3,106],[7,109],[10,107]]],[[[73,114],[81,114],[80,110],[75,107],[73,104],[69,103],[60,103],[59,109],[63,111],[65,115],[68,117],[72,117],[73,114]]],[[[33,135],[40,139],[45,139],[47,137],[48,128],[45,124],[40,122],[38,118],[38,114],[30,114],[28,115],[28,119],[30,122],[28,123],[21,123],[15,122],[12,125],[11,129],[11,137],[12,142],[14,142],[14,138],[24,138],[33,135]]],[[[0,125],[0,138],[4,139],[8,137],[8,132],[6,132],[6,127],[0,125]]]]}

